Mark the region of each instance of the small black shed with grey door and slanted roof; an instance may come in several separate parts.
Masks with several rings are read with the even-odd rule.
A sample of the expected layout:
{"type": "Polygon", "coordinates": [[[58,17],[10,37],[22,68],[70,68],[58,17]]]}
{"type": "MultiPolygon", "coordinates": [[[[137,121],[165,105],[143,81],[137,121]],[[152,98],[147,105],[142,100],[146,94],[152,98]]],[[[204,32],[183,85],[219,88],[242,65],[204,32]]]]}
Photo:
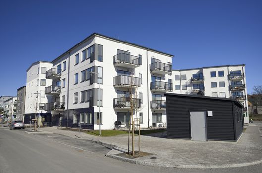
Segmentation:
{"type": "Polygon", "coordinates": [[[242,104],[228,98],[165,93],[167,137],[236,141],[243,132],[242,104]]]}

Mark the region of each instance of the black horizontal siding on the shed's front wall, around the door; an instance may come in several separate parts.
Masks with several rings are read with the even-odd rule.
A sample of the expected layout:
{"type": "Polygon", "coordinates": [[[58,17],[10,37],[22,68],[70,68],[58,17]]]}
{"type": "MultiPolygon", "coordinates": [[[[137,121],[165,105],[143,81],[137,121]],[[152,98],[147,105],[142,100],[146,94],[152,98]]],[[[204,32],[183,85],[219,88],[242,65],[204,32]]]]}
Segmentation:
{"type": "Polygon", "coordinates": [[[232,102],[208,98],[166,96],[167,137],[190,137],[190,111],[213,111],[207,117],[207,138],[235,140],[232,102]]]}

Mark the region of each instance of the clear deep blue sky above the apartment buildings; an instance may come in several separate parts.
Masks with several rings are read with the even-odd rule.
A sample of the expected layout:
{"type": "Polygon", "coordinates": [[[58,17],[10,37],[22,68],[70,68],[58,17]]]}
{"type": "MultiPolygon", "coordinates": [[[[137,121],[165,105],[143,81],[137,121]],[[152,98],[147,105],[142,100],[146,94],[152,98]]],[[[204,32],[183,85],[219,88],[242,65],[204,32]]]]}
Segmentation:
{"type": "Polygon", "coordinates": [[[262,0],[0,0],[0,95],[97,32],[175,55],[174,69],[246,64],[262,85],[262,0]]]}

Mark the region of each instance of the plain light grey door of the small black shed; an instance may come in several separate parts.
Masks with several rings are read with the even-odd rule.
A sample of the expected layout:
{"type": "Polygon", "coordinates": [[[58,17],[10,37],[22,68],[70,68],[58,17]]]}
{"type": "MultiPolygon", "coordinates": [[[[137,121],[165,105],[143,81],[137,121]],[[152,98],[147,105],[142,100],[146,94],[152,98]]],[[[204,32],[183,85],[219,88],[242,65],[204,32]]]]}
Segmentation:
{"type": "Polygon", "coordinates": [[[191,139],[207,140],[206,111],[190,112],[191,139]]]}

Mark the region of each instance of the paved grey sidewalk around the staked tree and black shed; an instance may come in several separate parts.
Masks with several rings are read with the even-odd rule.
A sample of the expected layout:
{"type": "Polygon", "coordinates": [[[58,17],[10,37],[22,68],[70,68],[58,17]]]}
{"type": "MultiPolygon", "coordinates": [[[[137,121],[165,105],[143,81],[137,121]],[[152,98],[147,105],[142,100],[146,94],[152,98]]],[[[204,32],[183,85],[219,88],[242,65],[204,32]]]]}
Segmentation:
{"type": "MultiPolygon", "coordinates": [[[[141,151],[153,153],[136,159],[127,159],[116,154],[127,150],[128,137],[98,137],[81,133],[82,139],[115,145],[106,156],[140,165],[178,168],[227,168],[262,163],[262,123],[247,127],[238,142],[191,141],[141,136],[141,151]],[[153,157],[153,158],[152,158],[153,157]]],[[[57,127],[40,128],[77,138],[79,132],[59,130],[57,127]]],[[[137,145],[138,136],[135,138],[137,145]]],[[[138,148],[136,147],[136,150],[138,148]]]]}

